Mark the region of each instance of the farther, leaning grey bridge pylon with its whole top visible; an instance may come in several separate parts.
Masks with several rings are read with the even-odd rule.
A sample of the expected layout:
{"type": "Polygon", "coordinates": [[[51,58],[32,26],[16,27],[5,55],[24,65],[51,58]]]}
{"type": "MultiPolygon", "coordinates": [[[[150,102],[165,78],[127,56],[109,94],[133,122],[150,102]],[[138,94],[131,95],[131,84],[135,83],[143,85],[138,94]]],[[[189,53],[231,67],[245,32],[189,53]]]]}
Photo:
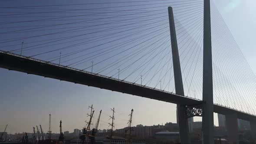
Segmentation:
{"type": "MultiPolygon", "coordinates": [[[[170,34],[171,34],[171,50],[172,50],[172,59],[173,59],[173,68],[174,68],[175,93],[177,95],[184,96],[184,88],[183,88],[182,75],[181,75],[181,63],[180,63],[180,57],[178,52],[172,7],[168,7],[168,14],[169,14],[169,25],[170,25],[170,34]]],[[[184,115],[185,105],[177,105],[177,112],[178,112],[177,121],[179,123],[181,144],[190,144],[188,121],[187,121],[187,117],[184,115]]]]}

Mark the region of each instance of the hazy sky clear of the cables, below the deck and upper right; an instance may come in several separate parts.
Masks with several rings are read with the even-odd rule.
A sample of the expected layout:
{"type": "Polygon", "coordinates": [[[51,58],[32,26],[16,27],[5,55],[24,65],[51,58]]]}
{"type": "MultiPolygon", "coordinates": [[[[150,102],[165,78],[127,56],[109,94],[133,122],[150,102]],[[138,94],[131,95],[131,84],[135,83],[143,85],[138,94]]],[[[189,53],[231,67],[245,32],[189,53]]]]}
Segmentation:
{"type": "MultiPolygon", "coordinates": [[[[15,2],[0,1],[5,7],[15,2]]],[[[255,73],[256,1],[214,2],[255,73]]],[[[26,0],[23,4],[30,5],[26,0]]],[[[115,128],[126,126],[132,108],[134,126],[176,123],[176,105],[171,103],[0,69],[0,131],[6,124],[8,133],[32,132],[32,127],[39,124],[47,131],[51,114],[53,132],[59,132],[60,120],[63,130],[72,132],[85,125],[87,108],[92,104],[96,114],[94,121],[102,109],[99,129],[108,128],[110,108],[113,107],[116,111],[115,128]]],[[[214,115],[214,124],[218,125],[214,115]]],[[[200,118],[194,120],[200,121],[200,118]]]]}

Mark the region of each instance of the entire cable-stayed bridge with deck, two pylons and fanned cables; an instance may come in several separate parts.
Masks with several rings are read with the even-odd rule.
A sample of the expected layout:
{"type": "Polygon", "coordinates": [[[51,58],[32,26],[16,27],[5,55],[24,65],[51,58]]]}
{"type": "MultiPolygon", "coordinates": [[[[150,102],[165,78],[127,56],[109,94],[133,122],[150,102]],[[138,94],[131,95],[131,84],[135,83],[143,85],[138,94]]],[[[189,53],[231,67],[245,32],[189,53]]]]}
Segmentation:
{"type": "MultiPolygon", "coordinates": [[[[204,111],[209,101],[204,99],[208,95],[203,96],[203,74],[212,73],[213,111],[226,115],[230,124],[237,125],[240,118],[253,127],[256,77],[217,7],[209,2],[146,0],[1,7],[0,67],[175,103],[184,108],[179,110],[184,114],[179,121],[184,123],[192,116],[209,114],[208,109],[204,111]],[[170,23],[169,6],[173,7],[174,23],[170,23]],[[175,32],[177,37],[178,57],[173,50],[174,36],[170,41],[174,24],[171,34],[175,32]],[[207,34],[212,44],[205,32],[211,32],[207,34]],[[212,70],[204,72],[206,42],[212,47],[213,59],[212,70]],[[178,94],[178,87],[183,94],[178,94]]],[[[210,80],[209,75],[206,78],[210,80]]],[[[209,144],[213,141],[210,127],[211,122],[203,127],[204,141],[209,144]]],[[[181,137],[186,137],[185,124],[182,129],[181,137]]],[[[230,134],[237,132],[236,127],[227,125],[227,129],[230,134]]],[[[188,138],[181,141],[189,143],[188,138]]]]}

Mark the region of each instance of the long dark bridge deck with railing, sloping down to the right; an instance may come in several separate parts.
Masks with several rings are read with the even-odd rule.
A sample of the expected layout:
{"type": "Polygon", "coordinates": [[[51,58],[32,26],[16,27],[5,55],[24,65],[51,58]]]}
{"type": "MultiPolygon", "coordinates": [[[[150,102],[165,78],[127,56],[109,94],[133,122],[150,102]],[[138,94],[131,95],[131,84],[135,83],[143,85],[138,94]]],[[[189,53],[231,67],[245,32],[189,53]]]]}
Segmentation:
{"type": "MultiPolygon", "coordinates": [[[[98,75],[79,69],[57,65],[45,62],[39,59],[19,56],[13,53],[0,51],[0,67],[28,74],[40,75],[53,79],[59,79],[67,82],[103,88],[115,92],[137,95],[144,98],[151,98],[159,101],[166,101],[174,104],[197,105],[201,101],[193,98],[176,95],[171,92],[162,91],[147,86],[141,86],[127,81],[121,81],[109,78],[104,75],[98,75]]],[[[213,105],[214,112],[226,115],[237,114],[238,118],[247,121],[256,121],[256,116],[237,111],[232,108],[226,108],[220,105],[213,105]]]]}

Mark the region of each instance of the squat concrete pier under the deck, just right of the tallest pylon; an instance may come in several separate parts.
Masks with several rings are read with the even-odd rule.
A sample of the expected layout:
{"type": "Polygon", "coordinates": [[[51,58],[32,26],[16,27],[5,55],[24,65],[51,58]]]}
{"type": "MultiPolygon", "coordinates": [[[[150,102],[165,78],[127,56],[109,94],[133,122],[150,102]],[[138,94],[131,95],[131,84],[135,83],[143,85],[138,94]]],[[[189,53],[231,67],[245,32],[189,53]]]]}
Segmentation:
{"type": "Polygon", "coordinates": [[[238,144],[238,123],[236,114],[226,115],[226,129],[229,144],[238,144]]]}

